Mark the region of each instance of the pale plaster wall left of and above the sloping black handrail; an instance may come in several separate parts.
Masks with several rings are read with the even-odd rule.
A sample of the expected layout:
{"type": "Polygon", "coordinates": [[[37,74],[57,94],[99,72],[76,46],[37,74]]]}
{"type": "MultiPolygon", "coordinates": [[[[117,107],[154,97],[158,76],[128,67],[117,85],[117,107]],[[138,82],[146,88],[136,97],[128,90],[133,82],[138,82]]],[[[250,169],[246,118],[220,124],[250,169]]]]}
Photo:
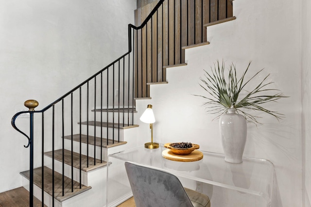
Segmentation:
{"type": "MultiPolygon", "coordinates": [[[[43,109],[128,51],[136,0],[0,0],[0,192],[21,186],[26,138],[11,126],[27,99],[43,109]]],[[[17,120],[28,131],[28,119],[17,120]]]]}

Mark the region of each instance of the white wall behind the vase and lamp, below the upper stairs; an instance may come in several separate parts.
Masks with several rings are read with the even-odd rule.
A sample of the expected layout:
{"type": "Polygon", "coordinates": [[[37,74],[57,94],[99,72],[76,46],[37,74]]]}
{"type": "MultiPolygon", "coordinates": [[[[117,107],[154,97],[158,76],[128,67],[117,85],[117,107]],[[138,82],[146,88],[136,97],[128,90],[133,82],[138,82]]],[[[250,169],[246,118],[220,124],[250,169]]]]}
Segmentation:
{"type": "MultiPolygon", "coordinates": [[[[248,77],[265,68],[255,82],[270,73],[269,80],[275,82],[272,87],[290,97],[266,105],[270,110],[284,113],[283,120],[278,122],[259,113],[263,125],[248,124],[244,156],[274,163],[279,188],[276,195],[280,196],[280,199],[276,196],[277,207],[301,207],[301,1],[234,0],[233,4],[237,19],[208,27],[210,45],[187,49],[188,65],[167,69],[169,83],[151,86],[152,99],[138,102],[138,117],[150,103],[156,118],[155,141],[187,141],[198,143],[202,150],[223,152],[218,120],[212,121],[215,115],[205,113],[201,106],[203,98],[192,95],[204,94],[198,85],[199,77],[217,59],[224,59],[227,65],[235,63],[240,74],[252,60],[248,77]]],[[[310,41],[310,30],[305,38],[310,41]]],[[[310,52],[310,48],[305,50],[310,52]]],[[[310,67],[308,61],[306,67],[310,67]]],[[[307,68],[305,71],[308,72],[307,68]]],[[[308,90],[307,93],[310,87],[308,90]]],[[[139,120],[138,125],[145,126],[139,120]]],[[[148,127],[141,128],[138,138],[145,143],[148,127]]],[[[306,184],[310,192],[310,181],[306,180],[306,184]]]]}

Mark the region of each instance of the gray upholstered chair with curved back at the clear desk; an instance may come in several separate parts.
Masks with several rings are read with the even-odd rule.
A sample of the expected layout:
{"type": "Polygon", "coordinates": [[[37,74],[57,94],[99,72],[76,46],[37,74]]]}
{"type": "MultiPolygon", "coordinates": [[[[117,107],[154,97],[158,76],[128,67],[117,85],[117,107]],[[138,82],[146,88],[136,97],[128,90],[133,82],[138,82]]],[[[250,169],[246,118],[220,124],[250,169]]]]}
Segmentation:
{"type": "Polygon", "coordinates": [[[183,188],[168,172],[125,162],[137,207],[210,207],[207,195],[183,188]]]}

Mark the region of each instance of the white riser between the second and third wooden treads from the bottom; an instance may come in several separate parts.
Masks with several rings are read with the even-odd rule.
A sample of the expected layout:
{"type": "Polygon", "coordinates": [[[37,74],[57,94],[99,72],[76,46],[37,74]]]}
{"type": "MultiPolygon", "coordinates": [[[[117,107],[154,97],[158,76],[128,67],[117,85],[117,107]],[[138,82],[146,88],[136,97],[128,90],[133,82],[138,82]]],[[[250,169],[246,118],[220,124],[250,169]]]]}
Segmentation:
{"type": "MultiPolygon", "coordinates": [[[[65,144],[65,149],[71,151],[71,141],[65,139],[64,140],[65,144]]],[[[73,151],[76,153],[80,153],[80,143],[78,142],[73,142],[73,151]]],[[[103,160],[107,160],[107,148],[102,148],[102,158],[103,160]]],[[[81,143],[81,153],[83,155],[87,154],[87,144],[86,143],[81,143]]],[[[94,158],[94,145],[88,144],[88,156],[94,158]]],[[[101,147],[96,146],[95,147],[95,158],[96,159],[101,159],[101,147]]]]}

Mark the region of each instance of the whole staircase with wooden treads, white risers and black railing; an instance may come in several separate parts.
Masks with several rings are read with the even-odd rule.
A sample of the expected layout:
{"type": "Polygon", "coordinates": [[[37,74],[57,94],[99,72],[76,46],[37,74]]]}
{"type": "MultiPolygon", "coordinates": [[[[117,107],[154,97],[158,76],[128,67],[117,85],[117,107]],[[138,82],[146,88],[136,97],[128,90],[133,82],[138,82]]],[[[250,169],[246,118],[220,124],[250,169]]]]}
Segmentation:
{"type": "MultiPolygon", "coordinates": [[[[134,139],[138,129],[135,102],[150,99],[150,85],[168,83],[166,68],[187,65],[184,63],[185,49],[209,44],[203,32],[207,26],[235,18],[226,18],[225,15],[224,19],[213,19],[215,15],[211,15],[212,8],[216,7],[221,11],[219,5],[230,5],[231,1],[225,0],[224,3],[223,0],[211,0],[208,10],[210,15],[207,22],[204,22],[202,11],[207,1],[195,2],[159,0],[156,4],[153,3],[154,9],[143,17],[146,19],[142,21],[141,26],[129,25],[129,51],[126,54],[44,109],[35,111],[37,104],[30,100],[25,103],[30,111],[21,111],[14,115],[13,127],[29,140],[30,170],[20,174],[23,177],[23,186],[30,191],[30,206],[32,196],[40,199],[42,205],[44,203],[48,207],[105,205],[107,156],[137,145],[137,140],[134,139]],[[168,33],[169,39],[174,39],[177,31],[183,28],[181,21],[177,20],[177,16],[181,19],[182,11],[185,11],[182,5],[194,9],[187,12],[190,14],[187,24],[192,22],[190,18],[195,21],[195,14],[201,11],[197,26],[201,28],[201,36],[195,38],[196,33],[189,35],[190,29],[187,29],[187,36],[180,33],[180,41],[166,42],[163,31],[171,27],[177,28],[173,33],[168,33]],[[154,16],[157,17],[157,24],[161,24],[158,17],[160,14],[162,20],[166,19],[164,25],[167,26],[161,29],[161,35],[157,35],[158,30],[151,28],[155,24],[154,16]],[[170,18],[175,19],[174,22],[179,24],[179,27],[169,25],[170,18]],[[162,39],[162,46],[159,48],[156,44],[155,49],[158,38],[162,39]],[[183,38],[188,40],[183,41],[183,38]],[[26,112],[30,113],[30,136],[15,125],[16,118],[26,112]],[[34,149],[33,143],[37,148],[34,149]]],[[[224,8],[227,9],[227,6],[224,8]]]]}

